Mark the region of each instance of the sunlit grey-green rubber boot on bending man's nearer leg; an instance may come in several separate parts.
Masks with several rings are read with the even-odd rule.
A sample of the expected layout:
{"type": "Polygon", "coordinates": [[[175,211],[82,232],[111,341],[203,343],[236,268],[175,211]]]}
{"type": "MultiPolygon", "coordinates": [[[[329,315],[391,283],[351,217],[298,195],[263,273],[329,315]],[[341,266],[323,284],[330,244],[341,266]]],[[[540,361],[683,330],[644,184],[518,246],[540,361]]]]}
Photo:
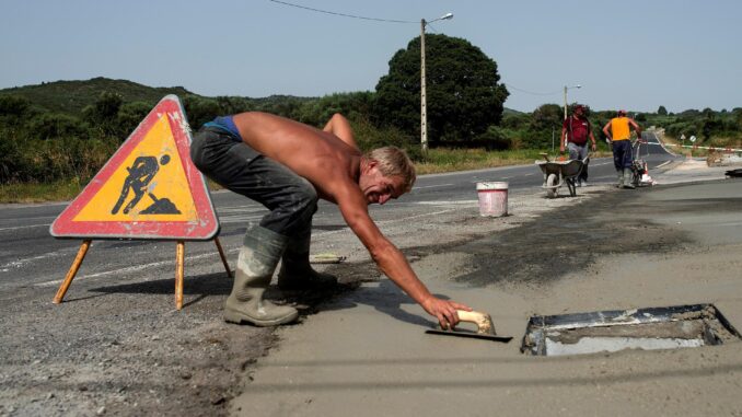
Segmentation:
{"type": "Polygon", "coordinates": [[[287,243],[288,238],[262,227],[247,231],[237,258],[232,293],[224,304],[227,322],[276,326],[297,320],[297,309],[263,300],[287,243]]]}

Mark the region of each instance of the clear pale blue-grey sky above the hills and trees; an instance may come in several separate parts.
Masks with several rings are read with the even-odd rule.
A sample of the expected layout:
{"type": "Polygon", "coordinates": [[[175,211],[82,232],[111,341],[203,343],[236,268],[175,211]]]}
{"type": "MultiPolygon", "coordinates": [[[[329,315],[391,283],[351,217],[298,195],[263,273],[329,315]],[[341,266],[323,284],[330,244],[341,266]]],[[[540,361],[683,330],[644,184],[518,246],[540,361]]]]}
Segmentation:
{"type": "Polygon", "coordinates": [[[0,89],[94,77],[206,95],[373,91],[426,33],[494,59],[506,107],[742,107],[739,0],[0,0],[0,89]],[[581,85],[580,89],[571,88],[581,85]]]}

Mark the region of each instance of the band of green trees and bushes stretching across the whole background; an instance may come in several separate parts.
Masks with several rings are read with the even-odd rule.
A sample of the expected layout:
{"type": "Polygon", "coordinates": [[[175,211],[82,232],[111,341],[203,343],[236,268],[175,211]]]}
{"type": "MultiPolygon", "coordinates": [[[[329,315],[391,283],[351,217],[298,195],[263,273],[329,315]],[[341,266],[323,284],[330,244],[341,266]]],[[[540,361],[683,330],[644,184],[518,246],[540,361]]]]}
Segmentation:
{"type": "MultiPolygon", "coordinates": [[[[420,153],[419,48],[417,37],[396,51],[389,62],[389,73],[373,92],[250,99],[205,97],[181,89],[178,94],[194,130],[216,116],[248,111],[268,112],[316,127],[341,113],[350,119],[363,150],[394,144],[421,161],[426,155],[420,153]]],[[[426,37],[426,48],[430,147],[549,150],[556,143],[558,149],[561,106],[544,104],[532,113],[506,111],[509,93],[500,83],[497,63],[478,47],[462,38],[433,34],[426,37]]],[[[105,81],[105,85],[113,85],[113,80],[105,81]]],[[[144,88],[136,85],[139,90],[144,88]]],[[[106,90],[74,112],[42,107],[38,101],[16,94],[15,90],[0,92],[0,184],[86,183],[156,103],[151,99],[153,90],[162,93],[163,89],[149,89],[148,99],[128,101],[118,91],[106,90]]],[[[53,99],[63,103],[63,92],[53,99]]],[[[587,109],[593,134],[601,138],[602,126],[615,113],[591,112],[589,106],[587,109]]],[[[730,112],[706,108],[671,114],[660,106],[656,113],[636,114],[635,118],[645,126],[662,126],[675,137],[695,135],[702,141],[720,140],[737,147],[742,138],[739,107],[730,112]],[[737,144],[730,143],[734,141],[737,144]]]]}

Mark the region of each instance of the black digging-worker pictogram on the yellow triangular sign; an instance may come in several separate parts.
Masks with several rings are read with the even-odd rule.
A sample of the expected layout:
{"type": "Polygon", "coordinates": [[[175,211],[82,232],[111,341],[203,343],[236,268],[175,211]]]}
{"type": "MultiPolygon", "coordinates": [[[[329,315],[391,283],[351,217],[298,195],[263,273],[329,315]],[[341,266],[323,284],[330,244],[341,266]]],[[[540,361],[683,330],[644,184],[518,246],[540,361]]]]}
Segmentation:
{"type": "Polygon", "coordinates": [[[160,157],[160,163],[155,157],[138,157],[131,166],[126,170],[129,172],[126,179],[124,179],[124,186],[121,187],[121,194],[114,205],[114,208],[111,210],[112,215],[116,215],[121,208],[124,201],[129,196],[129,190],[134,192],[134,198],[124,207],[124,215],[128,215],[131,209],[139,204],[139,201],[144,197],[144,194],[149,195],[153,200],[153,204],[142,210],[142,213],[149,215],[164,215],[164,213],[179,213],[177,208],[166,198],[159,199],[152,193],[148,193],[148,187],[154,176],[160,171],[160,165],[166,165],[170,162],[170,155],[164,154],[160,157]]]}

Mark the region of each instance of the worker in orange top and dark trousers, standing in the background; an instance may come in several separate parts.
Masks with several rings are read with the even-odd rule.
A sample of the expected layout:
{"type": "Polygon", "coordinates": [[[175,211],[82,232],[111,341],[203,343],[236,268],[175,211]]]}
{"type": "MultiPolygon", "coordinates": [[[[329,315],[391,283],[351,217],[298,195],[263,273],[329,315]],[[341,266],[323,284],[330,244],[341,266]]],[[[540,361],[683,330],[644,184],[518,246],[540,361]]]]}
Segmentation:
{"type": "Polygon", "coordinates": [[[603,127],[603,134],[613,144],[613,165],[618,174],[619,188],[635,188],[631,184],[631,131],[634,128],[637,138],[641,139],[641,128],[633,118],[626,116],[626,111],[618,111],[616,117],[608,120],[603,127]]]}

